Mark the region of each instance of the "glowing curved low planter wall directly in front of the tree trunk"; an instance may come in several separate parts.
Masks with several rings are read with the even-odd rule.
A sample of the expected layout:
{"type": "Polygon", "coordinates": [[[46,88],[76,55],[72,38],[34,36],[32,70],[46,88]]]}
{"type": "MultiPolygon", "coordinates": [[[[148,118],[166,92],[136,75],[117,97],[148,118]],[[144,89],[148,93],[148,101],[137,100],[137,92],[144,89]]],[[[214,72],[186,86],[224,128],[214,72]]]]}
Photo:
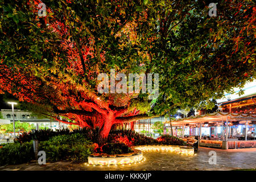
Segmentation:
{"type": "Polygon", "coordinates": [[[129,154],[98,154],[94,153],[88,157],[88,163],[94,165],[120,165],[140,162],[143,159],[142,151],[133,148],[129,154]]]}

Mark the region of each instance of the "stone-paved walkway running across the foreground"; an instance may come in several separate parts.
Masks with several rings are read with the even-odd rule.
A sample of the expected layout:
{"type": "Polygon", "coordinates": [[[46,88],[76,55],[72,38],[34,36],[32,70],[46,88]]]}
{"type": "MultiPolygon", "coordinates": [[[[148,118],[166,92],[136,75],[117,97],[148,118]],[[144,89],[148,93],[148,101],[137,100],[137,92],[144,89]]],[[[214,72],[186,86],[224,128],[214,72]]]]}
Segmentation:
{"type": "Polygon", "coordinates": [[[19,164],[13,166],[0,167],[0,170],[26,170],[26,171],[52,171],[52,170],[233,170],[256,168],[256,148],[245,148],[237,150],[221,150],[200,147],[195,156],[185,156],[170,152],[143,152],[146,161],[141,164],[131,164],[124,166],[87,166],[79,162],[55,162],[40,166],[36,162],[30,164],[19,164]],[[215,151],[217,154],[216,164],[209,164],[209,152],[215,151]]]}

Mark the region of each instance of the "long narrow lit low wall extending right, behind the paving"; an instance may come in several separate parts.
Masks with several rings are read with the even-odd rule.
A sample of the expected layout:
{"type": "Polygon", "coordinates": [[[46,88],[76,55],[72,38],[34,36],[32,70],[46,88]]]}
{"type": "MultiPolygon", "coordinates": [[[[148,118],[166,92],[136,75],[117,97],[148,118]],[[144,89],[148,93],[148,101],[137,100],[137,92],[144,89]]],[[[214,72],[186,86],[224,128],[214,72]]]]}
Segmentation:
{"type": "Polygon", "coordinates": [[[135,146],[134,148],[141,150],[141,151],[170,151],[176,152],[178,154],[183,155],[194,155],[194,148],[189,146],[157,146],[157,145],[150,145],[150,146],[135,146]]]}

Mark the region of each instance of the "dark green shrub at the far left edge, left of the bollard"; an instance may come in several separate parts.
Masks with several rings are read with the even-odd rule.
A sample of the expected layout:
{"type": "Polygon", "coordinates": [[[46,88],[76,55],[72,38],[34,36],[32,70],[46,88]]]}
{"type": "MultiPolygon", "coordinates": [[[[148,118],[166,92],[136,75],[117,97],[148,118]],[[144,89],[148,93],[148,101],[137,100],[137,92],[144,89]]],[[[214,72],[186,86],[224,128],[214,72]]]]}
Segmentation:
{"type": "Polygon", "coordinates": [[[9,143],[0,148],[0,166],[22,164],[34,159],[33,143],[9,143]]]}

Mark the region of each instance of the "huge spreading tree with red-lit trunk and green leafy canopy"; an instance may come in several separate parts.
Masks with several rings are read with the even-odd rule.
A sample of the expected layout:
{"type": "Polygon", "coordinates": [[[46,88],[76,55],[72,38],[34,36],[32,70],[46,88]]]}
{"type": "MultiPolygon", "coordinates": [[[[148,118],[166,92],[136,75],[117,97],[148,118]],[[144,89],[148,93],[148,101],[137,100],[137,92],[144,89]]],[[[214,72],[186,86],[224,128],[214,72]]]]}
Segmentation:
{"type": "MultiPolygon", "coordinates": [[[[0,92],[81,127],[221,98],[255,78],[255,6],[210,1],[0,0],[0,92]],[[100,73],[158,73],[159,97],[97,91],[100,73]]],[[[153,78],[154,80],[154,78],[153,78]]],[[[115,81],[115,85],[118,81],[115,81]]]]}

